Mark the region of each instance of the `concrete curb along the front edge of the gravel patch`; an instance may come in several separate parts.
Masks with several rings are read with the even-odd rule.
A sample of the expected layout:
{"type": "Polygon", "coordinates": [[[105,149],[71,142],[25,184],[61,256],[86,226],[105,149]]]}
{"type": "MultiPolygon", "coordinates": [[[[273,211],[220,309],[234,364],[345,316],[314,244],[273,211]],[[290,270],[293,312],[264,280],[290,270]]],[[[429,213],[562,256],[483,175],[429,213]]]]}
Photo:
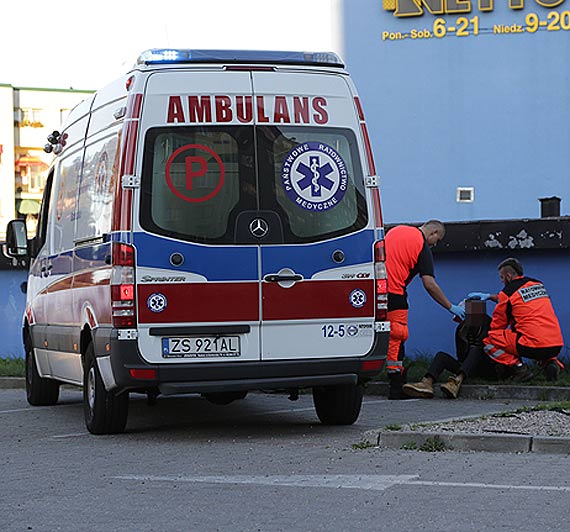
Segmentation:
{"type": "MultiPolygon", "coordinates": [[[[372,436],[373,431],[368,434],[372,436]]],[[[377,445],[390,449],[485,451],[492,453],[570,454],[570,438],[522,434],[466,434],[390,431],[377,434],[377,445]],[[422,449],[422,447],[424,449],[422,449]]]]}

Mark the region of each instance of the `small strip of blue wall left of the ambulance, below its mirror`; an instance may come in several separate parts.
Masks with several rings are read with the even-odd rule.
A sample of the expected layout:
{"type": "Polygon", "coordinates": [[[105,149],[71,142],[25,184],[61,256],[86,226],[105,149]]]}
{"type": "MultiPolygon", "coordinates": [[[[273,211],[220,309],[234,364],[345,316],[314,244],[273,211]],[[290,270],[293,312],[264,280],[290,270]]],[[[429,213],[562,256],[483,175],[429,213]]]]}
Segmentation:
{"type": "Polygon", "coordinates": [[[22,318],[26,294],[22,283],[28,278],[25,270],[0,269],[0,357],[23,357],[22,318]]]}

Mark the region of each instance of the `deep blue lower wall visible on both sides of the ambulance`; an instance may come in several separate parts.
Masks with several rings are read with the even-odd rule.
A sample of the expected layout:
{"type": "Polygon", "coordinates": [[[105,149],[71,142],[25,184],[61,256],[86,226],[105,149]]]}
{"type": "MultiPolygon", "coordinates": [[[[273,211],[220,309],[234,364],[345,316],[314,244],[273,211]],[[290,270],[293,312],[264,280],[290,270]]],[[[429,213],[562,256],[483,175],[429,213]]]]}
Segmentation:
{"type": "MultiPolygon", "coordinates": [[[[510,254],[509,254],[510,256],[510,254]]],[[[557,312],[565,348],[563,355],[570,357],[570,251],[528,251],[514,254],[522,261],[525,274],[543,281],[557,312]]],[[[436,279],[447,296],[454,302],[461,301],[469,292],[498,292],[502,285],[497,274],[497,264],[506,255],[493,251],[436,253],[436,279]]],[[[22,316],[26,297],[21,284],[26,280],[23,270],[0,270],[0,357],[23,357],[22,316]]],[[[433,301],[423,288],[419,278],[408,289],[410,303],[410,338],[406,343],[406,356],[431,356],[437,351],[454,353],[456,323],[449,312],[433,301]]],[[[494,304],[487,302],[487,312],[494,304]]]]}

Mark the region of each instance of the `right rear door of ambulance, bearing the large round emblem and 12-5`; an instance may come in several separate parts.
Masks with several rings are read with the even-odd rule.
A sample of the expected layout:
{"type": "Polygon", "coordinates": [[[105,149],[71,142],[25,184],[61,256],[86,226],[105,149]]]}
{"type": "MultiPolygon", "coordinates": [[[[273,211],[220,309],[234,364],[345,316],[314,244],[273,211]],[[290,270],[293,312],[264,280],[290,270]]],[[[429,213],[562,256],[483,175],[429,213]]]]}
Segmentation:
{"type": "Polygon", "coordinates": [[[365,355],[374,340],[374,224],[350,81],[291,70],[253,72],[253,86],[261,358],[365,355]]]}

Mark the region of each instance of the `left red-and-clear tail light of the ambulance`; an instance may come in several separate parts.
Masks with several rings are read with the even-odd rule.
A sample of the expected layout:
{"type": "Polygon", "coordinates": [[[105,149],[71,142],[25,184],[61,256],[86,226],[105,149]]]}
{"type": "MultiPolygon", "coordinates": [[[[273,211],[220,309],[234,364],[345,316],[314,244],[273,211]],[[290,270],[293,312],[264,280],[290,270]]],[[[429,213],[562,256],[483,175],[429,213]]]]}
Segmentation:
{"type": "Polygon", "coordinates": [[[111,250],[111,308],[113,327],[136,327],[135,250],[133,246],[113,242],[111,250]]]}

